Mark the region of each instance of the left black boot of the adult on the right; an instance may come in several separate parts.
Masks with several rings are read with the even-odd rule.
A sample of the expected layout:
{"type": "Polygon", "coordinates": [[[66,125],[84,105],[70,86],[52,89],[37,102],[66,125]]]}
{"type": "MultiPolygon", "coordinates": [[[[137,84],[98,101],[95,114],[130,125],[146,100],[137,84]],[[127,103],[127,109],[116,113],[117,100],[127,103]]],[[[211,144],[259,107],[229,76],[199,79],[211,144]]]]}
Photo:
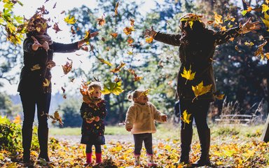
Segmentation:
{"type": "Polygon", "coordinates": [[[181,156],[180,163],[188,164],[190,162],[189,153],[191,151],[191,140],[193,139],[193,129],[181,129],[181,156]]]}

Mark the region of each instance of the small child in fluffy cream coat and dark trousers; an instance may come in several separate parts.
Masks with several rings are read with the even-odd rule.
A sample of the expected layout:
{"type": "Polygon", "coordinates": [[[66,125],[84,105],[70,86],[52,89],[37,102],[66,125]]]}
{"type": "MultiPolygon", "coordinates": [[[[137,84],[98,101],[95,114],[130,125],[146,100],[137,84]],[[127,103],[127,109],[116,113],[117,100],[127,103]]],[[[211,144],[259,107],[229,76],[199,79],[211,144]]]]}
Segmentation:
{"type": "Polygon", "coordinates": [[[125,129],[132,132],[135,140],[135,166],[140,165],[140,151],[142,144],[146,148],[148,166],[156,166],[153,161],[152,133],[156,132],[155,121],[164,123],[167,116],[160,113],[156,107],[149,102],[148,90],[135,90],[128,94],[132,104],[126,113],[125,129]]]}

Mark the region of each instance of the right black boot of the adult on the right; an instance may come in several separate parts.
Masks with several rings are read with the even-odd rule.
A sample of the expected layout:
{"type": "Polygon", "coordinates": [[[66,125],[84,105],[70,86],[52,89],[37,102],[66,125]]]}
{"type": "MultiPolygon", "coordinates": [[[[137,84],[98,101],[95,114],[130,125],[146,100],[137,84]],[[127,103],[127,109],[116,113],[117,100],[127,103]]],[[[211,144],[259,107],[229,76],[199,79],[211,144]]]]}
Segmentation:
{"type": "Polygon", "coordinates": [[[193,163],[193,167],[210,166],[209,148],[210,148],[210,129],[198,130],[200,139],[201,156],[200,159],[193,163]]]}

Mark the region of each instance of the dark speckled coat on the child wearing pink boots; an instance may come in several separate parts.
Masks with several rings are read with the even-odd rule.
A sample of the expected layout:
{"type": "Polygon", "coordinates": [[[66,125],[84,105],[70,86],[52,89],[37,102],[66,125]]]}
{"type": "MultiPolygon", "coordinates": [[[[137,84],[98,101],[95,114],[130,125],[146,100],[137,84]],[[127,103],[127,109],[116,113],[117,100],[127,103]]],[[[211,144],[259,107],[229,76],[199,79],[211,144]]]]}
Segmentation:
{"type": "Polygon", "coordinates": [[[83,118],[83,123],[81,127],[81,144],[92,144],[92,145],[103,145],[104,140],[104,118],[106,117],[106,104],[104,100],[97,104],[95,108],[89,106],[85,102],[81,104],[81,118],[83,118]],[[84,118],[85,114],[87,116],[98,116],[99,121],[93,121],[92,123],[87,123],[84,118]]]}

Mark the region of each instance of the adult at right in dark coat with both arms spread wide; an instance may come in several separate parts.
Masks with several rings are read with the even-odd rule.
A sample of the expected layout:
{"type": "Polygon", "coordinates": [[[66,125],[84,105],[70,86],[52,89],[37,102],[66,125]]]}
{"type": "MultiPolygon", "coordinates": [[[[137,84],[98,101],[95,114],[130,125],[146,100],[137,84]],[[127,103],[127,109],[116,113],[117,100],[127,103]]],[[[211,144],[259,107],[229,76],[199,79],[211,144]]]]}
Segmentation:
{"type": "Polygon", "coordinates": [[[201,156],[193,166],[211,165],[209,160],[210,130],[207,125],[207,111],[209,103],[214,101],[214,92],[216,92],[212,67],[216,45],[226,43],[230,38],[246,34],[249,31],[255,31],[261,27],[258,22],[251,22],[249,19],[244,25],[227,29],[226,31],[214,31],[207,29],[201,18],[201,15],[193,13],[188,13],[181,17],[179,21],[181,34],[163,34],[156,32],[153,27],[146,29],[144,32],[145,36],[153,37],[156,41],[179,46],[181,66],[177,76],[177,94],[180,101],[181,116],[184,111],[191,114],[190,123],[181,121],[181,158],[179,162],[189,163],[194,118],[200,139],[201,156]],[[191,69],[192,72],[195,72],[195,78],[186,82],[186,78],[181,76],[184,69],[191,69]],[[204,85],[212,85],[212,89],[196,97],[192,86],[197,86],[201,82],[204,85]]]}

